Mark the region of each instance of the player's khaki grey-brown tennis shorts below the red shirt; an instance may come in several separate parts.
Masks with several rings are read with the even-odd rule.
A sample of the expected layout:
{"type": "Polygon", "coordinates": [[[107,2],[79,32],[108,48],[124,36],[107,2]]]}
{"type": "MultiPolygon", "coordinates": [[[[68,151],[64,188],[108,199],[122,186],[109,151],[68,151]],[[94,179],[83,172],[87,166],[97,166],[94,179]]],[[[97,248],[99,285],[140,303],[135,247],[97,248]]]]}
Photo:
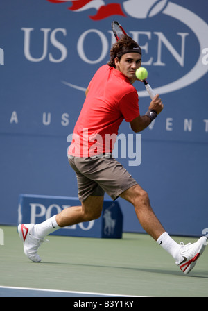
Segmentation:
{"type": "Polygon", "coordinates": [[[112,155],[96,158],[70,155],[69,164],[76,172],[80,201],[85,201],[88,196],[104,196],[105,192],[115,200],[123,191],[137,185],[137,181],[112,155]]]}

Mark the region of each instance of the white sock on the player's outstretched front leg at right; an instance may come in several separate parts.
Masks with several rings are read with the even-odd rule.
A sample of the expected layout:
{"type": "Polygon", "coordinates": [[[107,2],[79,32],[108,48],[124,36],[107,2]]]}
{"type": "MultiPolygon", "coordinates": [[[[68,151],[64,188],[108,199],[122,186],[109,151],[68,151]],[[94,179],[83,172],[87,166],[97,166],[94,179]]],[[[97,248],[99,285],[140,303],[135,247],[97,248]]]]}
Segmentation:
{"type": "Polygon", "coordinates": [[[157,244],[162,246],[173,258],[175,262],[180,261],[181,255],[179,255],[180,244],[177,244],[168,233],[164,232],[157,239],[157,244]]]}

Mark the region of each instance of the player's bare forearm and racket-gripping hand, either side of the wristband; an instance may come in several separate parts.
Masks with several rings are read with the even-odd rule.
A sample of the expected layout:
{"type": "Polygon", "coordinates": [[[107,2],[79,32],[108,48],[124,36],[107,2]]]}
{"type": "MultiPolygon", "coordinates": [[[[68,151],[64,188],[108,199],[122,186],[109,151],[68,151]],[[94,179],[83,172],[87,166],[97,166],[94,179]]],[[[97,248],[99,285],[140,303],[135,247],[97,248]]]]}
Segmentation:
{"type": "MultiPolygon", "coordinates": [[[[157,112],[157,115],[159,115],[160,112],[162,112],[163,109],[163,103],[162,100],[159,98],[159,95],[155,95],[153,100],[150,102],[149,110],[155,110],[157,112]]],[[[130,126],[132,128],[132,131],[135,133],[143,131],[145,128],[147,128],[151,123],[150,117],[147,115],[139,115],[135,119],[133,119],[130,122],[130,126]]]]}

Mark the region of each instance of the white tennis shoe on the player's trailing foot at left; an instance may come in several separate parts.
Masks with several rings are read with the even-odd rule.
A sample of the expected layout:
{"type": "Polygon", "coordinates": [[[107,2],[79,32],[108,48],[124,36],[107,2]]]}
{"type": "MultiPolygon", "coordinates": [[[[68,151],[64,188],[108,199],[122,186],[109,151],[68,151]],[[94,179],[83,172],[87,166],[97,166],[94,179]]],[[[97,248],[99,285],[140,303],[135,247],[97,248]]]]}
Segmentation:
{"type": "Polygon", "coordinates": [[[24,253],[33,262],[40,262],[41,258],[37,255],[44,239],[35,237],[34,235],[34,224],[20,224],[18,226],[19,237],[23,241],[24,253]]]}

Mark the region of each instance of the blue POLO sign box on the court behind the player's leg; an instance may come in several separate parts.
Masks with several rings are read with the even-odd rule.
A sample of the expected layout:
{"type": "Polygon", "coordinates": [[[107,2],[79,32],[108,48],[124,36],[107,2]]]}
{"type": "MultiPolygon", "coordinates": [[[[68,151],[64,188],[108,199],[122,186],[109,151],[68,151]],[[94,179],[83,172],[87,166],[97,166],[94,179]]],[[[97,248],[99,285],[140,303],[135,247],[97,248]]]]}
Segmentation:
{"type": "MultiPolygon", "coordinates": [[[[78,198],[20,194],[18,224],[40,224],[64,208],[78,205],[81,205],[78,198]]],[[[122,232],[123,215],[119,203],[105,200],[100,218],[60,228],[51,235],[121,239],[122,232]]]]}

